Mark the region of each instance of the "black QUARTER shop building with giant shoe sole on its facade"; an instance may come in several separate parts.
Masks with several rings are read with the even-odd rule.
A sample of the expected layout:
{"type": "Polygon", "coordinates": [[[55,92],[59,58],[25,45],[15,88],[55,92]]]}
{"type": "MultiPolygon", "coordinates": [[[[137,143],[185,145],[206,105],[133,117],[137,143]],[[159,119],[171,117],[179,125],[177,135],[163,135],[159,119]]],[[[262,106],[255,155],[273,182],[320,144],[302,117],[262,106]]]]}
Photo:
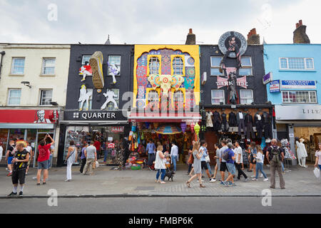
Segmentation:
{"type": "MultiPolygon", "coordinates": [[[[93,141],[98,157],[103,157],[108,142],[118,147],[128,137],[132,58],[131,45],[71,46],[58,166],[63,165],[71,140],[75,142],[78,154],[83,142],[93,141]]],[[[106,165],[115,164],[115,156],[116,149],[108,152],[106,165]]]]}

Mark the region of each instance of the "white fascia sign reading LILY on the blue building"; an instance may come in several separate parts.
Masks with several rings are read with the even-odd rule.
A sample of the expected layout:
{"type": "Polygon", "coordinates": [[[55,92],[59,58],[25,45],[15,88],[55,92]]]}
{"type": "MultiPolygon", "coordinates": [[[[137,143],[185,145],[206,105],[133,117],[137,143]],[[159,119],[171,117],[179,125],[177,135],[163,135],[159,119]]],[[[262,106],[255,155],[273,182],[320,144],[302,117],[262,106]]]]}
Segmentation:
{"type": "Polygon", "coordinates": [[[277,120],[321,120],[321,105],[275,105],[277,120]]]}

